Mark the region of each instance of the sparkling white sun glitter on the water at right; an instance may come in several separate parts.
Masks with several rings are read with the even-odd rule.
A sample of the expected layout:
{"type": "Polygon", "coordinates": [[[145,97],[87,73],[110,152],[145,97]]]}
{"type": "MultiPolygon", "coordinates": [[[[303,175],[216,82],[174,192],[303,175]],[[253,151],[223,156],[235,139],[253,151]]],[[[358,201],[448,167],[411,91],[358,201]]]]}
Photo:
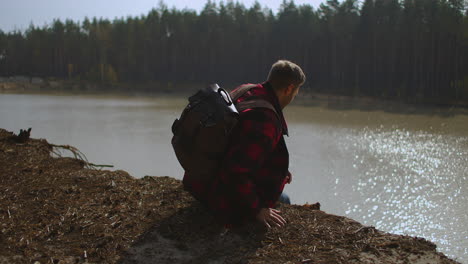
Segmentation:
{"type": "Polygon", "coordinates": [[[342,140],[355,152],[353,168],[361,175],[352,190],[367,197],[362,204],[348,202],[347,215],[468,254],[466,247],[452,246],[454,237],[468,241],[468,201],[461,195],[468,189],[468,138],[380,127],[342,140]]]}

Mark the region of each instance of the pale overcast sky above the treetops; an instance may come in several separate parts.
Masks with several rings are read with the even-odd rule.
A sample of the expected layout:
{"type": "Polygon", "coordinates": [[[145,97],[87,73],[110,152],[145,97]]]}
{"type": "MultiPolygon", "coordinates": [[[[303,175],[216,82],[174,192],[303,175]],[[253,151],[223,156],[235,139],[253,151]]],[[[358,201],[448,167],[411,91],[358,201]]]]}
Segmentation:
{"type": "MultiPolygon", "coordinates": [[[[317,8],[325,0],[295,0],[296,4],[310,4],[317,8]]],[[[157,7],[158,0],[0,0],[0,29],[8,32],[14,29],[24,30],[32,22],[43,26],[54,18],[82,21],[84,17],[139,16],[147,14],[157,7]]],[[[206,0],[166,0],[169,7],[190,8],[200,11],[206,0]]],[[[215,2],[219,3],[219,0],[215,2]]],[[[226,2],[226,1],[225,1],[226,2]]],[[[239,0],[250,7],[255,0],[239,0]]],[[[259,0],[261,5],[277,11],[282,0],[259,0]]]]}

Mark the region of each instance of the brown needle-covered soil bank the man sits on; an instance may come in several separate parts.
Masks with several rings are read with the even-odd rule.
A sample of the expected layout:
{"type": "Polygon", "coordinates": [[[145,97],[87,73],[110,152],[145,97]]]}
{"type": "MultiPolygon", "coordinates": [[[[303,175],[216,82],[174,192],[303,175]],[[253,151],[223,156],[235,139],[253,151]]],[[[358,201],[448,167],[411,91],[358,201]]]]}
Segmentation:
{"type": "Polygon", "coordinates": [[[225,230],[176,179],[86,169],[52,150],[0,129],[0,263],[457,263],[308,205],[281,206],[283,228],[225,230]]]}

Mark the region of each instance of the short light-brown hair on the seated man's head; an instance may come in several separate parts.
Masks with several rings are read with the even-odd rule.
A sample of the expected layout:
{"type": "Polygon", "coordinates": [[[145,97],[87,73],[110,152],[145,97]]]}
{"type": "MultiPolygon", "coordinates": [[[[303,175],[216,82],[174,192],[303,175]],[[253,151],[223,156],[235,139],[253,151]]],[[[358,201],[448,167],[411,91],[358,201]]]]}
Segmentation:
{"type": "Polygon", "coordinates": [[[301,67],[288,60],[279,60],[271,66],[267,81],[270,82],[275,89],[283,89],[294,84],[301,86],[306,80],[305,74],[301,67]]]}

